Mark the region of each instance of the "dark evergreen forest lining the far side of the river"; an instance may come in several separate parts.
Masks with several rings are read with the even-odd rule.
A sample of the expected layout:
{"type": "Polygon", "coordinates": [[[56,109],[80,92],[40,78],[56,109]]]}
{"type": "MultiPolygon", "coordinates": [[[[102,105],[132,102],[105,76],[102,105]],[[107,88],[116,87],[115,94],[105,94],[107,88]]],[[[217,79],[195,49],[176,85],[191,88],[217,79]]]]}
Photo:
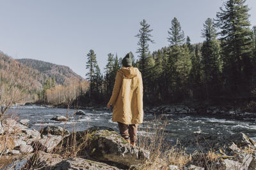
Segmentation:
{"type": "MultiPolygon", "coordinates": [[[[150,43],[154,43],[153,29],[142,20],[136,35],[138,59],[135,61],[132,54],[132,65],[141,71],[144,101],[151,104],[252,96],[256,85],[256,27],[250,29],[245,2],[225,1],[216,18],[205,20],[204,42],[195,45],[189,36],[184,36],[179,20],[174,17],[166,31],[169,46],[155,52],[149,51],[150,43]]],[[[108,101],[122,58],[109,53],[104,76],[93,50],[87,59],[90,88],[86,96],[97,103],[108,101]]]]}

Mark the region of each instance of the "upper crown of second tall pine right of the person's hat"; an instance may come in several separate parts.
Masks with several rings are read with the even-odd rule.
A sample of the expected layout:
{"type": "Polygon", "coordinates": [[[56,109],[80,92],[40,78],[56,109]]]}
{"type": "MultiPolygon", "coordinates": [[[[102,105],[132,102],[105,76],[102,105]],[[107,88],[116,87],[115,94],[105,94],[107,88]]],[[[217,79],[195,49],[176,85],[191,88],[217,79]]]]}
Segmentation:
{"type": "Polygon", "coordinates": [[[170,42],[170,46],[182,45],[182,43],[184,43],[184,32],[181,30],[180,23],[175,17],[172,20],[172,27],[170,27],[170,31],[168,31],[167,39],[170,42]]]}

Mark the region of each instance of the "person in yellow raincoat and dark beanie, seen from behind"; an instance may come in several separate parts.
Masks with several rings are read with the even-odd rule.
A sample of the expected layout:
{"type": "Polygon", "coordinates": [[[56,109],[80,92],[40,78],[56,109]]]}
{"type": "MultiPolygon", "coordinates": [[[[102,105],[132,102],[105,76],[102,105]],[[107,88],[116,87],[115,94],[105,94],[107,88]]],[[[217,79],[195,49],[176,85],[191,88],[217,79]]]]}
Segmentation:
{"type": "Polygon", "coordinates": [[[143,122],[143,83],[138,68],[132,67],[131,53],[125,55],[122,65],[108,108],[114,107],[112,121],[118,122],[121,136],[136,146],[138,124],[143,122]]]}

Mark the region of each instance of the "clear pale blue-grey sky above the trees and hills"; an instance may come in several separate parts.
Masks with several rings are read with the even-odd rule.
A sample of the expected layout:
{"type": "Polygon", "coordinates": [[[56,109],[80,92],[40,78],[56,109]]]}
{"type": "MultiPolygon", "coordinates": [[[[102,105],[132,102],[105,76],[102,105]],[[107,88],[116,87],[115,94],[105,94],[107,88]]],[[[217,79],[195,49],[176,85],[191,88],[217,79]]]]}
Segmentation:
{"type": "MultiPolygon", "coordinates": [[[[173,17],[192,43],[202,42],[205,20],[223,0],[0,0],[0,50],[14,59],[30,58],[69,66],[85,77],[86,54],[93,49],[101,71],[108,53],[137,56],[140,21],[154,29],[150,51],[168,46],[173,17]]],[[[256,1],[247,0],[256,25],[256,1]]]]}

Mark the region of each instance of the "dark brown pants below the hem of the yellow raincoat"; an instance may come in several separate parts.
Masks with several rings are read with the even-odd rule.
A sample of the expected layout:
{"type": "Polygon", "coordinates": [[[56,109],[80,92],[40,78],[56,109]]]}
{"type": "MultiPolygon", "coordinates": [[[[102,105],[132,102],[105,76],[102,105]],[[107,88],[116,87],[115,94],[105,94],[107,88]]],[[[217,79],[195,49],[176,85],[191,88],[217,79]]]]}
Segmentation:
{"type": "Polygon", "coordinates": [[[131,141],[137,140],[138,124],[126,125],[118,122],[120,134],[123,138],[129,138],[131,141]]]}

